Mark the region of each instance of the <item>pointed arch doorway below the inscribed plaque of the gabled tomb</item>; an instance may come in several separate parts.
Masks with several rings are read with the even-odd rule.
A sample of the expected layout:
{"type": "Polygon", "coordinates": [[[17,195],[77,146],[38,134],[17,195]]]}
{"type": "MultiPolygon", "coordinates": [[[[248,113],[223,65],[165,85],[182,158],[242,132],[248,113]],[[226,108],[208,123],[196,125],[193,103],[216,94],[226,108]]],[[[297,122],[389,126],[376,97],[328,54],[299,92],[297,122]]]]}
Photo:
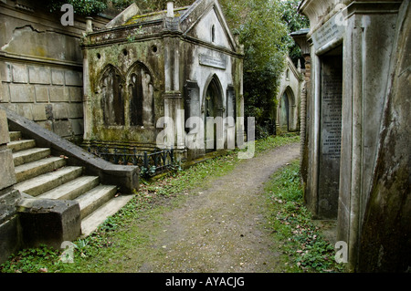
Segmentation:
{"type": "Polygon", "coordinates": [[[216,75],[213,75],[207,84],[203,103],[204,134],[205,152],[210,152],[224,149],[223,90],[216,75]]]}

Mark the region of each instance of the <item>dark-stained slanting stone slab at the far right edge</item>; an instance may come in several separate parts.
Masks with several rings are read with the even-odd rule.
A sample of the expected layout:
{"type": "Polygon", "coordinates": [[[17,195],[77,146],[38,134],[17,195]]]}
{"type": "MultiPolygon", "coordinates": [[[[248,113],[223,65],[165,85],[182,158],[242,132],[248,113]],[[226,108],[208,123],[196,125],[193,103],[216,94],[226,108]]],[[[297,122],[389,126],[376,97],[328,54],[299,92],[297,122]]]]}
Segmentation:
{"type": "Polygon", "coordinates": [[[409,117],[411,5],[403,3],[398,27],[394,76],[385,102],[374,183],[364,215],[360,272],[409,272],[411,266],[411,130],[409,117]]]}

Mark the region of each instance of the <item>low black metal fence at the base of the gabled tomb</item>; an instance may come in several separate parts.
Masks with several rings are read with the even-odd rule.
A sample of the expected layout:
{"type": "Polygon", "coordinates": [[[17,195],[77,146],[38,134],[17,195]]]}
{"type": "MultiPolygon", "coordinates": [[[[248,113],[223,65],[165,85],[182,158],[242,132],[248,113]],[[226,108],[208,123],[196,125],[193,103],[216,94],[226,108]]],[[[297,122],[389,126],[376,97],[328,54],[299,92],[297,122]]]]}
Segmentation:
{"type": "Polygon", "coordinates": [[[151,173],[167,170],[174,166],[174,150],[157,150],[151,153],[138,152],[136,148],[132,150],[123,148],[89,147],[88,151],[105,161],[114,164],[139,166],[142,173],[151,173]]]}

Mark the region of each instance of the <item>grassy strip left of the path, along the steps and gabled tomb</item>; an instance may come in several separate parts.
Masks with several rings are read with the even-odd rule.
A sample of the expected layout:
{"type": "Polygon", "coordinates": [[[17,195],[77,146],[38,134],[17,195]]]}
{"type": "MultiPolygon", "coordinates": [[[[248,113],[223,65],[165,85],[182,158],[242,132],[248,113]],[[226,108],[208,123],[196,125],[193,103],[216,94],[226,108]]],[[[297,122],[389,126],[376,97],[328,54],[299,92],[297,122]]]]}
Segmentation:
{"type": "MultiPolygon", "coordinates": [[[[257,140],[256,154],[299,140],[295,134],[257,140]]],[[[205,188],[213,179],[233,170],[241,162],[237,159],[238,151],[227,151],[227,154],[197,163],[184,171],[177,168],[157,181],[142,180],[140,190],[135,192],[132,200],[121,211],[108,218],[88,237],[72,242],[74,264],[62,261],[62,250],[41,245],[11,255],[5,264],[0,265],[0,272],[122,272],[127,267],[138,268],[146,257],[161,259],[163,253],[161,250],[153,251],[151,244],[153,237],[161,231],[159,225],[163,213],[184,203],[190,191],[205,188]],[[133,252],[137,251],[138,261],[131,262],[133,252]]]]}

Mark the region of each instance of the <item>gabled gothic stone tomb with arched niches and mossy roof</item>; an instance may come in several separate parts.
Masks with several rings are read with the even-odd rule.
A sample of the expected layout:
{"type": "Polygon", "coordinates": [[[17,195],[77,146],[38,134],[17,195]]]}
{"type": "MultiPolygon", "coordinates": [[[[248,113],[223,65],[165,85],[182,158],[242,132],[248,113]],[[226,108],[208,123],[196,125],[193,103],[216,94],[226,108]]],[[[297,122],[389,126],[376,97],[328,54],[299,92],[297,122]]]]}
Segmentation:
{"type": "Polygon", "coordinates": [[[131,5],[106,29],[89,32],[82,47],[86,145],[172,146],[193,159],[235,141],[235,121],[216,122],[221,135],[206,133],[207,117],[236,120],[244,110],[242,48],[216,0],[180,8],[170,2],[147,15],[131,5]],[[187,138],[202,141],[193,149],[187,138]]]}

